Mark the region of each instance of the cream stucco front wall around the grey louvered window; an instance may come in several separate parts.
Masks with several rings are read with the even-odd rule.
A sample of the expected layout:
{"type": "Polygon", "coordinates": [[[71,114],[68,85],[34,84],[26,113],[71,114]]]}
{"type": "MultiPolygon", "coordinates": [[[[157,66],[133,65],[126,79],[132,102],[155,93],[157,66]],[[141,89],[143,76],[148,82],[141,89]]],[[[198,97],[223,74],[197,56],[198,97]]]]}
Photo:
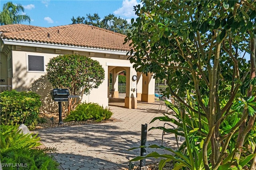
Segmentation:
{"type": "MultiPolygon", "coordinates": [[[[64,51],[65,54],[72,54],[73,51],[64,51]]],[[[110,58],[106,58],[105,54],[95,53],[92,54],[90,52],[77,52],[78,54],[85,55],[91,57],[93,60],[98,60],[102,67],[105,70],[105,79],[102,84],[97,89],[92,89],[89,95],[84,95],[82,102],[93,102],[98,103],[100,106],[108,107],[108,67],[110,65],[118,65],[118,66],[129,66],[132,67],[129,60],[126,58],[119,59],[119,55],[112,55],[110,58]]],[[[52,86],[44,76],[45,72],[28,72],[27,71],[27,56],[44,56],[44,65],[46,66],[50,60],[50,58],[56,57],[60,54],[52,54],[50,52],[34,52],[34,51],[12,51],[12,70],[13,70],[13,78],[12,78],[12,88],[18,91],[27,91],[32,90],[37,92],[42,96],[42,100],[44,100],[43,112],[55,112],[57,102],[53,102],[50,96],[50,90],[52,86]]],[[[133,70],[132,74],[136,75],[135,70],[133,70]]]]}

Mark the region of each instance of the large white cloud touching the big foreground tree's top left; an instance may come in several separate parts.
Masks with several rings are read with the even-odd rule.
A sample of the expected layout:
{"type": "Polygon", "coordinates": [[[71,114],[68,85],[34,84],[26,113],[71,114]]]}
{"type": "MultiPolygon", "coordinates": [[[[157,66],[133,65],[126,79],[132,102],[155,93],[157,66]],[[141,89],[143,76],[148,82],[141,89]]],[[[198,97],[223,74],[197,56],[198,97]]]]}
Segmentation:
{"type": "Polygon", "coordinates": [[[134,6],[138,5],[137,0],[123,0],[122,7],[114,11],[116,16],[123,16],[124,18],[136,17],[134,6]]]}

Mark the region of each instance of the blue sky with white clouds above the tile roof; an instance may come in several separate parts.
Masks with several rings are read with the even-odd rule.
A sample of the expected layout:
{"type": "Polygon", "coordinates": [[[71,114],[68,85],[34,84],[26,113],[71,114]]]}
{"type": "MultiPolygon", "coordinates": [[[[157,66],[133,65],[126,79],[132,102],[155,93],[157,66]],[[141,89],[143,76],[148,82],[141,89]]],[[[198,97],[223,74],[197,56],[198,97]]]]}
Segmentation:
{"type": "MultiPolygon", "coordinates": [[[[108,14],[130,21],[136,18],[133,6],[138,0],[0,0],[0,10],[3,4],[11,1],[24,6],[24,13],[30,16],[33,26],[61,26],[71,24],[71,18],[98,13],[100,18],[108,14]]],[[[29,24],[23,22],[21,24],[29,24]]]]}

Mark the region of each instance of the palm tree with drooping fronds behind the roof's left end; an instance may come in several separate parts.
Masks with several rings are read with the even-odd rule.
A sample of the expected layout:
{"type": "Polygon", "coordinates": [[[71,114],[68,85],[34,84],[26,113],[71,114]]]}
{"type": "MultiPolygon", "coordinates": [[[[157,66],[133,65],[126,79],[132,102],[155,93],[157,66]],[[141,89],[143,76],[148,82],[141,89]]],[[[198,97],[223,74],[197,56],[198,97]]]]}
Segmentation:
{"type": "Polygon", "coordinates": [[[26,14],[21,15],[20,12],[24,12],[24,7],[21,4],[13,4],[12,2],[4,4],[3,10],[0,13],[1,25],[20,24],[24,21],[30,23],[30,17],[26,14]]]}

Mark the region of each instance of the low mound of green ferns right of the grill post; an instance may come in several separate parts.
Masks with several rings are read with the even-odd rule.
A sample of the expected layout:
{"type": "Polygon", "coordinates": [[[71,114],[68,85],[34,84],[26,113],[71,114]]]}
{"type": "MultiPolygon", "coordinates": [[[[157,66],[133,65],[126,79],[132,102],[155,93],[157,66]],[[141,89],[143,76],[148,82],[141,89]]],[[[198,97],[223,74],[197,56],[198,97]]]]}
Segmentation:
{"type": "Polygon", "coordinates": [[[105,119],[109,119],[112,116],[112,112],[103,108],[95,103],[83,103],[79,104],[75,110],[71,111],[65,122],[70,121],[84,121],[88,119],[95,119],[96,122],[100,122],[105,119]]]}

